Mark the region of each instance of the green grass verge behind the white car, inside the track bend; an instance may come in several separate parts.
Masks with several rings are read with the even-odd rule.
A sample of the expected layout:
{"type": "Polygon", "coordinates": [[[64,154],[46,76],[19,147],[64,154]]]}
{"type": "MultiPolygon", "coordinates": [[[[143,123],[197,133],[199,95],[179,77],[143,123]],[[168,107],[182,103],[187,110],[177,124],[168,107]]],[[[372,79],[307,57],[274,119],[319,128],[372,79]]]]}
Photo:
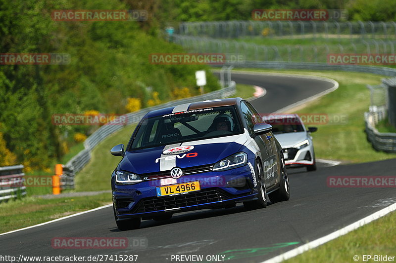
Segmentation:
{"type": "MultiPolygon", "coordinates": [[[[250,69],[249,69],[250,70],[250,69]]],[[[347,115],[346,123],[309,125],[318,127],[312,133],[315,154],[320,159],[359,163],[396,158],[396,153],[376,151],[366,139],[364,112],[370,106],[366,84],[381,83],[383,76],[352,72],[251,70],[257,72],[288,73],[323,76],[335,79],[337,90],[308,103],[297,113],[324,113],[329,116],[347,115]]]]}

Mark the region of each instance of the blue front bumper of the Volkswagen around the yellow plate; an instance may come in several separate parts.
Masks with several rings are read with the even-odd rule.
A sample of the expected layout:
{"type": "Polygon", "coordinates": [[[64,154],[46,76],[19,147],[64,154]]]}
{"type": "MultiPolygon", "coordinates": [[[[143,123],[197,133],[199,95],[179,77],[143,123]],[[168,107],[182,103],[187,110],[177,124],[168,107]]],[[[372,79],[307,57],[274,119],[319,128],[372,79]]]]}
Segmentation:
{"type": "MultiPolygon", "coordinates": [[[[112,177],[113,205],[117,218],[152,218],[163,213],[226,207],[257,198],[248,165],[227,171],[186,175],[175,181],[172,184],[199,181],[200,190],[157,197],[156,187],[161,186],[159,179],[119,186],[114,184],[112,177]]],[[[162,186],[166,185],[164,183],[162,182],[162,186]]]]}

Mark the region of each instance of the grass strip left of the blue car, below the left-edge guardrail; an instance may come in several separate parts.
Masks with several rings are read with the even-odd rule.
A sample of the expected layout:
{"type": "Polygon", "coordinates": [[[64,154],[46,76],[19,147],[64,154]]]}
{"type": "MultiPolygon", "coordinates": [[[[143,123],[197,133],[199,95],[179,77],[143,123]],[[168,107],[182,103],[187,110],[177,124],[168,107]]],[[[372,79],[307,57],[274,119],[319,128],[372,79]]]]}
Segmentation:
{"type": "Polygon", "coordinates": [[[0,233],[44,223],[109,203],[111,193],[54,199],[26,197],[8,200],[0,203],[0,233]]]}

